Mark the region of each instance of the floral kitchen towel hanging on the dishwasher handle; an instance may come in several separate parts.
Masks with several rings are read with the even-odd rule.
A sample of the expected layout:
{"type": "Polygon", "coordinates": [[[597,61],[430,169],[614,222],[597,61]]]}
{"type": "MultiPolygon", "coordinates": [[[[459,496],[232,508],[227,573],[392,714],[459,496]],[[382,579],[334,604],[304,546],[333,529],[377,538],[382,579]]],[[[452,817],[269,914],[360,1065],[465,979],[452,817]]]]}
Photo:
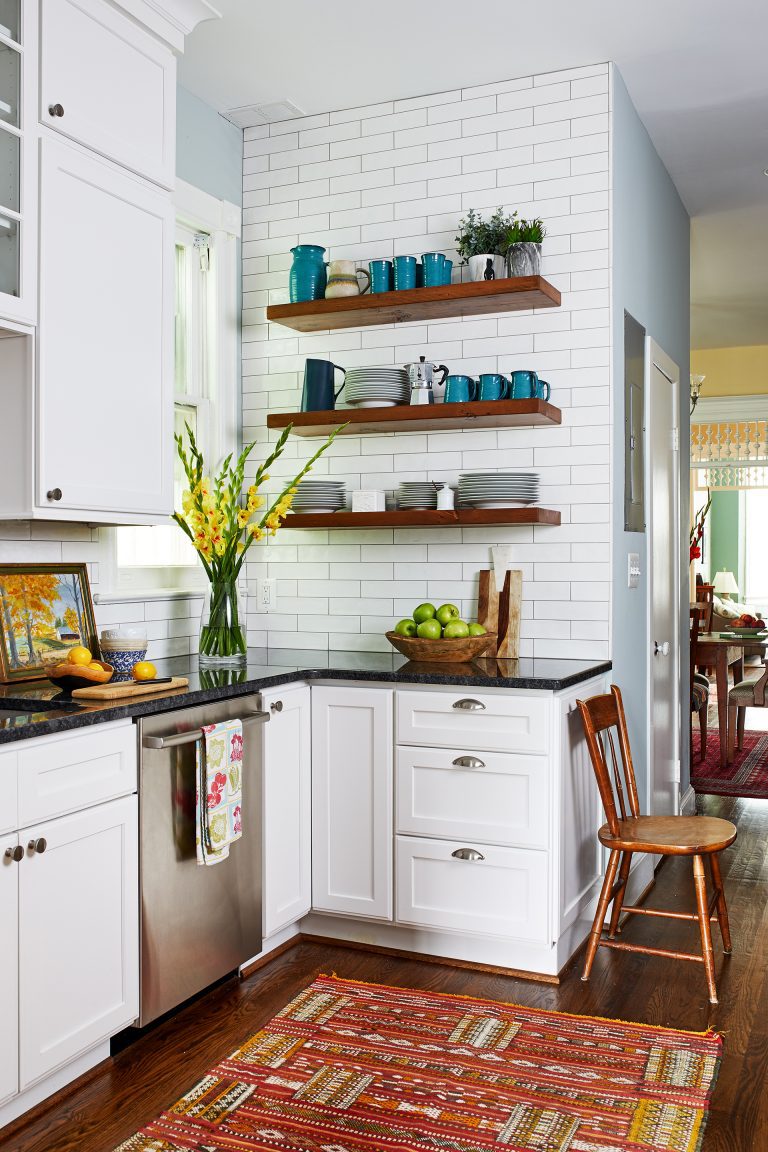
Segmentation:
{"type": "Polygon", "coordinates": [[[239,720],[203,726],[197,742],[198,864],[218,864],[243,834],[243,725],[239,720]]]}

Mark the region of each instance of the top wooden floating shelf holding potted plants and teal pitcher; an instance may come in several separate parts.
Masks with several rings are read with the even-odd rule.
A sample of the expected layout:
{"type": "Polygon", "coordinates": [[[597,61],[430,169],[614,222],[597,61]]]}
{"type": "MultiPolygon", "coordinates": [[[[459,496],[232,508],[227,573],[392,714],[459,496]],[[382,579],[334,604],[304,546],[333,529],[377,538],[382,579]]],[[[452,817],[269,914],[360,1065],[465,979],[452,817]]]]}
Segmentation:
{"type": "Polygon", "coordinates": [[[529,308],[560,308],[560,293],[543,276],[480,280],[434,288],[409,288],[342,300],[310,300],[271,304],[267,320],[297,332],[359,328],[370,324],[409,324],[454,316],[520,312],[529,308]]]}

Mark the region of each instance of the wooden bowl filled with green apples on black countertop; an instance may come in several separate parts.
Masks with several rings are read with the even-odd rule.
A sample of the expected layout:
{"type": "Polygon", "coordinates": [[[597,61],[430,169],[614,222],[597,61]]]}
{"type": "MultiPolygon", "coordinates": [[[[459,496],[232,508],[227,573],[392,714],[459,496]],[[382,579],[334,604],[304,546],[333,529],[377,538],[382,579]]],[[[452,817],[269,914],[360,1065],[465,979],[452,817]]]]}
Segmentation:
{"type": "Polygon", "coordinates": [[[455,604],[419,604],[413,615],[385,634],[409,660],[464,664],[481,655],[495,641],[482,624],[467,623],[455,604]]]}

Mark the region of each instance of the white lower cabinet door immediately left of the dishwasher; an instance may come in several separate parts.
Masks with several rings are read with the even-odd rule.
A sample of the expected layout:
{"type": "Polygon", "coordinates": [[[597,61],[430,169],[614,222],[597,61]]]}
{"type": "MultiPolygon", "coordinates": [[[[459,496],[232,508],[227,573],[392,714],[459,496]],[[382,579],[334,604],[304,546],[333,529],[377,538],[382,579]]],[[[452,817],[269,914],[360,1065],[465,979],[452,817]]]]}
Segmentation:
{"type": "Polygon", "coordinates": [[[137,797],[25,828],[20,841],[25,1089],[138,1015],[137,797]]]}

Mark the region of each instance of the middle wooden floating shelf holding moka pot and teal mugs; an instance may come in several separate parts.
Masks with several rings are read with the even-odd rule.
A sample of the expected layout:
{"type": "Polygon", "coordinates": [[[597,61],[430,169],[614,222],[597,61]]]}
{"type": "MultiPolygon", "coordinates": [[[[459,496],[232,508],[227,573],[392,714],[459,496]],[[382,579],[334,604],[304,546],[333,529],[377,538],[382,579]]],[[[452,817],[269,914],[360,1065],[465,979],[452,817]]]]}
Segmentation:
{"type": "Polygon", "coordinates": [[[532,427],[560,424],[560,408],[546,400],[479,400],[467,404],[397,404],[395,408],[337,408],[325,412],[269,412],[267,427],[292,425],[295,435],[328,435],[344,422],[341,435],[370,432],[447,432],[455,429],[532,427]]]}

